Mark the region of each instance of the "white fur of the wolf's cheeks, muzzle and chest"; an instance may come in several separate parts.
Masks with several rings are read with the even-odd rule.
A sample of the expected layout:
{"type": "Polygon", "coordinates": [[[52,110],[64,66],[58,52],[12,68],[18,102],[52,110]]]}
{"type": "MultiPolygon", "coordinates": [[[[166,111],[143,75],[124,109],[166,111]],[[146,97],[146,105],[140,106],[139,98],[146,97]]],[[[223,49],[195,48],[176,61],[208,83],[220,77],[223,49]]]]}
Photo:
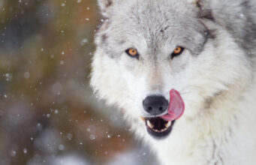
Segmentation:
{"type": "MultiPolygon", "coordinates": [[[[150,5],[158,3],[146,1],[150,5]]],[[[167,0],[161,2],[167,3],[166,6],[180,5],[179,2],[172,4],[167,0]]],[[[127,40],[122,45],[123,48],[118,46],[113,49],[119,52],[136,46],[143,60],[131,58],[125,52],[118,57],[110,57],[99,37],[96,38],[98,46],[92,61],[91,84],[98,97],[122,110],[132,130],[143,142],[152,146],[152,151],[158,155],[163,165],[255,164],[254,57],[248,57],[248,52],[236,42],[232,32],[227,31],[221,24],[202,19],[205,26],[215,31],[215,39],[205,44],[200,55],[192,55],[185,50],[182,55],[170,61],[168,51],[176,46],[177,41],[175,38],[168,38],[159,41],[158,54],[161,55],[153,59],[147,52],[150,47],[146,44],[150,38],[143,35],[145,31],[133,34],[128,28],[128,33],[125,33],[126,26],[118,24],[122,24],[122,17],[128,15],[120,10],[120,6],[126,6],[125,3],[131,5],[140,2],[119,1],[116,9],[113,3],[109,10],[101,6],[102,10],[107,10],[104,16],[113,20],[110,28],[103,26],[98,36],[104,33],[110,35],[110,39],[106,41],[110,45],[117,42],[111,37],[123,36],[127,40]],[[111,12],[121,13],[113,16],[111,12]],[[124,33],[115,34],[114,29],[124,30],[124,33]],[[164,95],[169,99],[170,89],[181,93],[185,102],[185,113],[174,124],[170,136],[157,140],[149,136],[145,123],[140,120],[140,116],[149,115],[143,110],[142,101],[152,94],[164,95]]],[[[196,7],[188,7],[188,10],[192,9],[196,10],[196,7]]]]}

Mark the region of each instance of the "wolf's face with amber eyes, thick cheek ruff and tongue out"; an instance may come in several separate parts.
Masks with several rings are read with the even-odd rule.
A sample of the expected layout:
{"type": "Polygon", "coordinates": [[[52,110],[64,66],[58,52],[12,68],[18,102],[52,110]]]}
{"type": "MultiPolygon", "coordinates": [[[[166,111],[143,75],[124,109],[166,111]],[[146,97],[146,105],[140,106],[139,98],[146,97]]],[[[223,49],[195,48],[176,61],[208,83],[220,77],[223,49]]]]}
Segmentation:
{"type": "Polygon", "coordinates": [[[238,73],[245,73],[244,52],[210,12],[200,17],[198,4],[99,4],[105,21],[96,34],[92,86],[99,97],[124,110],[135,129],[167,137],[175,121],[178,125],[206,112],[241,78],[238,73]]]}

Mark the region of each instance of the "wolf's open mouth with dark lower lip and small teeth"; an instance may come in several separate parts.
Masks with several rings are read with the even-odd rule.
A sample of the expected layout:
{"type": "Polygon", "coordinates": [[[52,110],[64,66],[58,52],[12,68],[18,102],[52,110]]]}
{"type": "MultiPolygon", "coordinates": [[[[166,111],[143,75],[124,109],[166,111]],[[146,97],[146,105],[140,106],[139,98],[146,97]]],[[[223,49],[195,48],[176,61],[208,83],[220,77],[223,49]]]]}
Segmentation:
{"type": "Polygon", "coordinates": [[[146,130],[156,139],[162,139],[170,134],[173,129],[173,121],[166,121],[161,117],[145,118],[146,130]]]}

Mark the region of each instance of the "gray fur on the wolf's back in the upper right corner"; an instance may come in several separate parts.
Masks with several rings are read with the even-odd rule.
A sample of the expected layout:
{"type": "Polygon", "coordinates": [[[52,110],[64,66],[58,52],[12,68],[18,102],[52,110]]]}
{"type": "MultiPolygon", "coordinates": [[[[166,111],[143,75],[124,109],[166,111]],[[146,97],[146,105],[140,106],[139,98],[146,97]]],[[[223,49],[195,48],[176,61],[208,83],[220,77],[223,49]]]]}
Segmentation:
{"type": "Polygon", "coordinates": [[[216,23],[230,31],[248,53],[255,54],[256,50],[256,1],[201,1],[204,10],[211,10],[216,23]],[[232,14],[230,14],[232,13],[232,14]]]}

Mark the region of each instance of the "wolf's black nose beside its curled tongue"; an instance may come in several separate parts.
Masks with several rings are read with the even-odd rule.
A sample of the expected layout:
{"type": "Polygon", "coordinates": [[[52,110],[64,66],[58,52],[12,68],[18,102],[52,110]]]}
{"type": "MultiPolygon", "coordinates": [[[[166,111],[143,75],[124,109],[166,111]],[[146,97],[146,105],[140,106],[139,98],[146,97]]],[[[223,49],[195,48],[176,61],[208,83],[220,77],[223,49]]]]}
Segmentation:
{"type": "Polygon", "coordinates": [[[168,101],[162,96],[152,95],[143,101],[143,107],[150,115],[160,115],[167,110],[168,101]]]}

